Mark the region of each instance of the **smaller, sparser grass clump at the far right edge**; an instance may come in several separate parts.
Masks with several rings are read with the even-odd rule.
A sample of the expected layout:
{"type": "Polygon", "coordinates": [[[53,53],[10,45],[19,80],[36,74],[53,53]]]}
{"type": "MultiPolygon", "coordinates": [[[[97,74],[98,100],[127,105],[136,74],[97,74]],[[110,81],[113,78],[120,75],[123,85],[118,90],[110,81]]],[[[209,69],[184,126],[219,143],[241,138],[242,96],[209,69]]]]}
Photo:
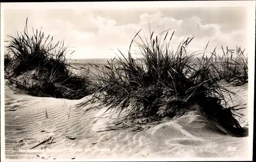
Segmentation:
{"type": "Polygon", "coordinates": [[[248,83],[248,56],[241,47],[236,50],[228,49],[226,52],[222,46],[223,55],[217,56],[215,51],[215,64],[212,64],[219,79],[224,79],[234,86],[241,86],[248,83]]]}

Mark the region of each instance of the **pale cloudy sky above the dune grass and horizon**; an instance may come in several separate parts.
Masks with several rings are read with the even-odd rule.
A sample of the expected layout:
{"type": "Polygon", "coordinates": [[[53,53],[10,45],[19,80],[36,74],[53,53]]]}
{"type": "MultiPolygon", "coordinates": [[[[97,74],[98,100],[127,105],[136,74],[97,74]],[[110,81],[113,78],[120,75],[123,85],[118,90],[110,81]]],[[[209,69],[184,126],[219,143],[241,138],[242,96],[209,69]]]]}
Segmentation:
{"type": "MultiPolygon", "coordinates": [[[[187,36],[194,36],[188,48],[190,52],[203,50],[208,41],[207,49],[212,51],[217,46],[220,55],[221,45],[236,49],[237,45],[246,48],[248,43],[245,7],[9,7],[4,10],[5,41],[7,35],[14,36],[15,32],[24,30],[27,17],[31,34],[32,27],[41,28],[46,36],[53,36],[54,42],[65,39],[68,49],[74,50],[72,56],[67,53],[71,59],[115,57],[119,55],[117,49],[127,53],[140,29],[142,38],[149,38],[150,30],[158,37],[166,30],[170,37],[175,31],[171,41],[173,48],[187,36]]],[[[136,43],[132,50],[138,51],[136,43]]]]}

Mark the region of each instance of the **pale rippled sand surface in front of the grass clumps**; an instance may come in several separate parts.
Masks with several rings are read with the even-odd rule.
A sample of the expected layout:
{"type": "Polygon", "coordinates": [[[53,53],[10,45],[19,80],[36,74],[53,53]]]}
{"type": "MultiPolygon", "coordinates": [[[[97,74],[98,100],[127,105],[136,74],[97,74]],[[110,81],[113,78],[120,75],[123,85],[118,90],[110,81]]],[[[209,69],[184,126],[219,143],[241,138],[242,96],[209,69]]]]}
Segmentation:
{"type": "MultiPolygon", "coordinates": [[[[247,103],[247,85],[230,87],[247,103]]],[[[139,132],[130,129],[101,131],[102,111],[75,109],[86,100],[67,100],[14,94],[5,88],[5,153],[8,159],[87,159],[87,158],[193,158],[248,157],[248,137],[235,138],[217,131],[203,117],[189,113],[174,121],[148,126],[139,132]],[[15,108],[16,111],[9,109],[15,108]],[[46,110],[48,118],[46,118],[46,110]],[[70,117],[68,115],[70,111],[70,117]],[[75,140],[66,138],[74,136],[75,140]],[[52,136],[55,143],[38,142],[52,136]],[[46,147],[44,150],[41,148],[46,147]],[[95,150],[89,150],[95,149],[95,150]],[[102,150],[97,150],[102,149],[102,150]],[[27,152],[21,152],[21,151],[27,152]]],[[[243,112],[247,115],[247,109],[243,112]]],[[[247,117],[241,119],[246,124],[247,117]]]]}

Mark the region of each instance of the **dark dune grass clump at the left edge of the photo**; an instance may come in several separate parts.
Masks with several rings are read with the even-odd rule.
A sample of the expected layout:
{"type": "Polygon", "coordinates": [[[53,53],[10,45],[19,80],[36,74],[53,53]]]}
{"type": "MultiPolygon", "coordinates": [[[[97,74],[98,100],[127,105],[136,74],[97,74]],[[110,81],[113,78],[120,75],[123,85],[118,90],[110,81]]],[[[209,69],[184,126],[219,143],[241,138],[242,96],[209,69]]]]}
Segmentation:
{"type": "Polygon", "coordinates": [[[89,69],[80,70],[80,75],[74,72],[77,69],[65,57],[68,47],[64,41],[53,44],[53,38],[45,37],[41,30],[33,30],[30,36],[27,21],[24,32],[8,37],[6,56],[12,57],[5,60],[5,78],[12,90],[67,99],[92,93],[89,69]]]}

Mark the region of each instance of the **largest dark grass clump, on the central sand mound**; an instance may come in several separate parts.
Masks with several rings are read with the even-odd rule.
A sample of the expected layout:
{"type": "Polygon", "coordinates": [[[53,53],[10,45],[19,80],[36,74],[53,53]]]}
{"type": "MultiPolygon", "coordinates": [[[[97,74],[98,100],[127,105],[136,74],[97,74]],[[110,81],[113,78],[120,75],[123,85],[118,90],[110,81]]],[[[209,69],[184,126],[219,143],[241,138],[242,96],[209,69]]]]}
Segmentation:
{"type": "Polygon", "coordinates": [[[154,32],[151,32],[149,40],[142,40],[138,32],[135,37],[138,36],[142,43],[134,37],[131,45],[135,41],[140,52],[132,53],[130,45],[127,57],[120,51],[122,57],[108,61],[108,65],[95,65],[99,71],[94,83],[97,93],[92,100],[79,106],[99,101],[98,107],[107,106],[106,111],[117,112],[120,116],[124,113],[121,121],[132,126],[138,124],[138,119],[148,123],[164,117],[173,118],[193,109],[193,105],[200,105],[204,117],[217,119],[225,129],[241,134],[239,123],[231,123],[236,119],[224,96],[232,92],[217,82],[219,78],[211,68],[212,56],[207,58],[203,53],[203,57],[197,58],[198,64],[194,63],[196,53],[188,55],[186,52],[194,37],[183,40],[177,50],[173,50],[169,46],[173,35],[174,32],[167,39],[167,32],[162,40],[158,36],[153,38],[154,32]],[[135,59],[132,54],[142,57],[135,59]],[[212,107],[212,103],[217,106],[212,107]],[[223,112],[229,114],[225,113],[222,119],[223,112]]]}

